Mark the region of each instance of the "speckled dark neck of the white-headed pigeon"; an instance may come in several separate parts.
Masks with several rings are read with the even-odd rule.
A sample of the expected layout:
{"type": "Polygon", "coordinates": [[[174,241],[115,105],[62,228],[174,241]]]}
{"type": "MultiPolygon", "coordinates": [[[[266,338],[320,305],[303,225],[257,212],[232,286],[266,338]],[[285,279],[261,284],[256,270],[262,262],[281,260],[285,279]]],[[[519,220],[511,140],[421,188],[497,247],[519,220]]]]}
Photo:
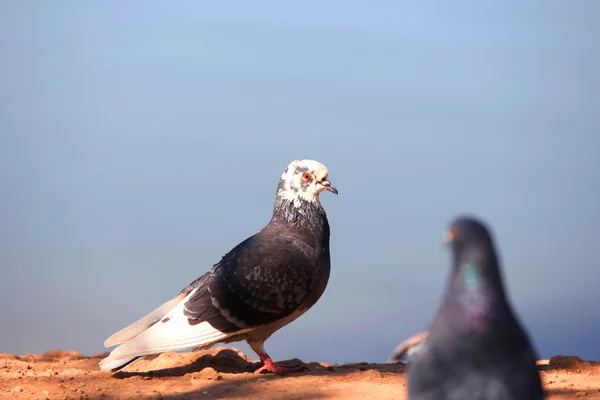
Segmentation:
{"type": "Polygon", "coordinates": [[[329,243],[329,223],[321,204],[303,199],[294,201],[278,196],[273,207],[271,223],[292,224],[294,229],[306,231],[320,244],[329,243]]]}

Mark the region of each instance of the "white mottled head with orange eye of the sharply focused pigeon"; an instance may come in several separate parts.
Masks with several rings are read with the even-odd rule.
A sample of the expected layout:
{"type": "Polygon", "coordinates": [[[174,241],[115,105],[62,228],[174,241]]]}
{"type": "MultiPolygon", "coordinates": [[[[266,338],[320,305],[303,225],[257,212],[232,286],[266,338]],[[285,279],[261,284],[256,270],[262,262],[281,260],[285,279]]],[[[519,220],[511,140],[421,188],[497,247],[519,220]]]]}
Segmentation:
{"type": "Polygon", "coordinates": [[[300,207],[302,201],[319,203],[319,193],[338,194],[328,180],[327,168],[318,161],[296,160],[285,169],[277,187],[277,197],[300,207]]]}

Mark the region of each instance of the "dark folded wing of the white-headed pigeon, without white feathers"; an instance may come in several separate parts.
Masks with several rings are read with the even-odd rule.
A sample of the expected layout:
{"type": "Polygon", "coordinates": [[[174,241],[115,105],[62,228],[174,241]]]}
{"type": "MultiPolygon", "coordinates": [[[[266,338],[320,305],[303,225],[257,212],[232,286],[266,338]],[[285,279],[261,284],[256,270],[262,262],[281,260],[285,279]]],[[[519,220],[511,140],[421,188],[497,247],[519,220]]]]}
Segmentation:
{"type": "MultiPolygon", "coordinates": [[[[307,306],[318,285],[315,250],[298,237],[257,234],[226,254],[186,301],[190,323],[253,328],[307,306]]],[[[310,306],[310,305],[308,305],[310,306]]]]}

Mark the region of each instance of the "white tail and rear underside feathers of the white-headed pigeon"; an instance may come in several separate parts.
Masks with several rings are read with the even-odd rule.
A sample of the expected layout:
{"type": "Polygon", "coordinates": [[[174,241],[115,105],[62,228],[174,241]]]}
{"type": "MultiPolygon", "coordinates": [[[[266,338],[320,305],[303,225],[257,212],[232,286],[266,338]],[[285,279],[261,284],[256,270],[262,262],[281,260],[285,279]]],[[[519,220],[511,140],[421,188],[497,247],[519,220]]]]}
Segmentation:
{"type": "MultiPolygon", "coordinates": [[[[164,318],[115,348],[108,357],[100,362],[100,368],[104,370],[119,368],[120,365],[125,365],[136,357],[167,351],[210,347],[230,336],[251,330],[221,332],[206,321],[190,324],[188,317],[183,314],[183,307],[194,292],[190,292],[181,299],[164,318]]],[[[125,328],[125,330],[127,329],[125,328]]]]}

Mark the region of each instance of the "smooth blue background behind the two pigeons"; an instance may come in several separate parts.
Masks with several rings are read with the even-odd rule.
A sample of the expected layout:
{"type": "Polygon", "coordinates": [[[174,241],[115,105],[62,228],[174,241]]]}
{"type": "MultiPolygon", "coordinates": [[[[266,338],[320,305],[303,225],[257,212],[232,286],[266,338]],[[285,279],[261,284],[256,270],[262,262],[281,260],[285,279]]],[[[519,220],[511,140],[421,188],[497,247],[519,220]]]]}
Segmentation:
{"type": "Polygon", "coordinates": [[[463,212],[493,227],[541,355],[600,359],[599,12],[3,2],[0,351],[103,351],[262,228],[310,158],[340,191],[332,274],[275,359],[384,361],[432,318],[463,212]]]}

